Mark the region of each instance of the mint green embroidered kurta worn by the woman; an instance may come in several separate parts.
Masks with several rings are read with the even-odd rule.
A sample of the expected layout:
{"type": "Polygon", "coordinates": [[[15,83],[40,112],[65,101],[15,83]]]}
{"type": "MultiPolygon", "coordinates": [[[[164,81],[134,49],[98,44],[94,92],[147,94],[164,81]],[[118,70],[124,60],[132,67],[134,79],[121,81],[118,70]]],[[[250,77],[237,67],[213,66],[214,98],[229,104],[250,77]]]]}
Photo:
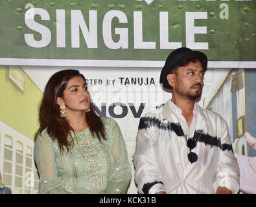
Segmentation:
{"type": "Polygon", "coordinates": [[[87,128],[75,132],[74,146],[62,155],[58,142],[52,141],[46,129],[38,135],[34,158],[40,173],[40,193],[126,192],[131,167],[122,133],[112,118],[102,118],[102,122],[107,140],[101,144],[87,128]]]}

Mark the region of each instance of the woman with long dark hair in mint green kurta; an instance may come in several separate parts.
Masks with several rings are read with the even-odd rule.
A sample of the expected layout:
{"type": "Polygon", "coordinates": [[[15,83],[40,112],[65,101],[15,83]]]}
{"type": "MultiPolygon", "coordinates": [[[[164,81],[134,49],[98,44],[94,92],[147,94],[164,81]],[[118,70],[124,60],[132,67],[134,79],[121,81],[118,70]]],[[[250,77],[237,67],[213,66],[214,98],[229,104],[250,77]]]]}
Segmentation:
{"type": "Polygon", "coordinates": [[[121,131],[112,118],[95,114],[82,74],[52,75],[39,120],[40,193],[126,193],[131,167],[121,131]]]}

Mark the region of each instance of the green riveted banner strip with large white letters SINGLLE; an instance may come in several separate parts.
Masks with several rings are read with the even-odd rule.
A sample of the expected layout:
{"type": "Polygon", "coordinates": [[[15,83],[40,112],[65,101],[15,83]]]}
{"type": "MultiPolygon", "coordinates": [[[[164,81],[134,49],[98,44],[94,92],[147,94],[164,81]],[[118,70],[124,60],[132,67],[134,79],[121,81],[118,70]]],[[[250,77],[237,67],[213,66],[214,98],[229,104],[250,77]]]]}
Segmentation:
{"type": "Polygon", "coordinates": [[[165,61],[178,47],[256,61],[255,1],[5,0],[0,10],[0,64],[165,61]]]}

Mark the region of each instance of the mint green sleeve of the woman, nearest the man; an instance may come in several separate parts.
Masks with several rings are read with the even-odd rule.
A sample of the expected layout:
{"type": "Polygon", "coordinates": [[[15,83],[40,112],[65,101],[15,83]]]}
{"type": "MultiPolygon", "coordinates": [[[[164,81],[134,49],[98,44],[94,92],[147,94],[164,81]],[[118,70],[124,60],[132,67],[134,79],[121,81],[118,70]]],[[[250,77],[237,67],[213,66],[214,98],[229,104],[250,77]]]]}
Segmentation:
{"type": "Polygon", "coordinates": [[[119,125],[111,119],[111,130],[113,135],[114,168],[111,172],[110,182],[106,194],[126,193],[128,184],[132,177],[132,169],[128,161],[128,153],[119,125]]]}

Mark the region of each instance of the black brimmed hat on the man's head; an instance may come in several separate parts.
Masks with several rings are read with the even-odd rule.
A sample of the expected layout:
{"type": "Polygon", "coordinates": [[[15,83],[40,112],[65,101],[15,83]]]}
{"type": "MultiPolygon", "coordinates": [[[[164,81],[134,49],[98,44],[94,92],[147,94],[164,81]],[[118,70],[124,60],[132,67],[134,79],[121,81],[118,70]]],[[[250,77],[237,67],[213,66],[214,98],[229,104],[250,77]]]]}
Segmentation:
{"type": "Polygon", "coordinates": [[[170,52],[167,60],[165,61],[165,65],[160,74],[160,83],[163,84],[163,87],[166,89],[172,89],[167,81],[167,75],[172,73],[172,69],[174,69],[185,57],[192,57],[199,60],[202,64],[203,69],[206,71],[207,69],[207,56],[204,52],[193,51],[187,47],[180,47],[176,50],[170,52]]]}

